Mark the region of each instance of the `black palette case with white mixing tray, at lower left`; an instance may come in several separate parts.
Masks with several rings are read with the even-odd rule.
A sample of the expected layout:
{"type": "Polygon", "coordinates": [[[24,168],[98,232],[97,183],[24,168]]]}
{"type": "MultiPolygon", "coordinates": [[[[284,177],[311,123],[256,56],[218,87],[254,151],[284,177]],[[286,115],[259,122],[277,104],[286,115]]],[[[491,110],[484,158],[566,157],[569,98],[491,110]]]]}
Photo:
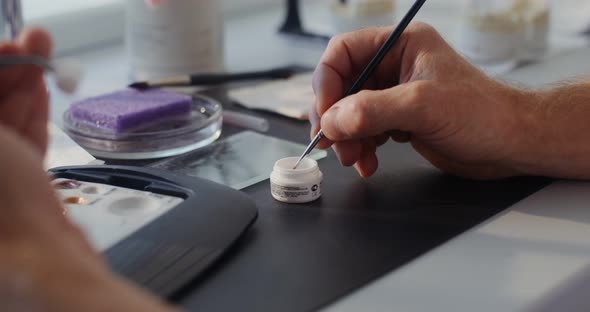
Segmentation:
{"type": "Polygon", "coordinates": [[[51,169],[64,213],[115,272],[170,297],[253,224],[244,193],[168,171],[126,166],[51,169]]]}

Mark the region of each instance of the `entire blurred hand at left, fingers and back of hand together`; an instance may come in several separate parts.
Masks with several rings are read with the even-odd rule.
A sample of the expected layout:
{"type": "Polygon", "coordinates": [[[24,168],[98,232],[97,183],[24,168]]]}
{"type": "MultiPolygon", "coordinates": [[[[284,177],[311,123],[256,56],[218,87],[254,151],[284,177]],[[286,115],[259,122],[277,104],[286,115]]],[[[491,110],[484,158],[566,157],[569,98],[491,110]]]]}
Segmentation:
{"type": "MultiPolygon", "coordinates": [[[[46,32],[25,31],[0,55],[49,57],[46,32]]],[[[111,273],[43,170],[48,97],[42,70],[0,69],[0,311],[170,311],[111,273]]]]}

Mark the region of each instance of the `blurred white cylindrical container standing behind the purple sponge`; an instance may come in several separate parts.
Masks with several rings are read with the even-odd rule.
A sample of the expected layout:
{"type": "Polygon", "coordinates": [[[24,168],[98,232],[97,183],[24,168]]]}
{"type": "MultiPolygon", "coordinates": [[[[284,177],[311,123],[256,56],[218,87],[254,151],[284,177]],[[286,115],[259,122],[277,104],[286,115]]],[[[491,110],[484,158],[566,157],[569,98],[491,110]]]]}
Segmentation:
{"type": "Polygon", "coordinates": [[[223,69],[219,0],[126,0],[131,78],[146,80],[223,69]]]}

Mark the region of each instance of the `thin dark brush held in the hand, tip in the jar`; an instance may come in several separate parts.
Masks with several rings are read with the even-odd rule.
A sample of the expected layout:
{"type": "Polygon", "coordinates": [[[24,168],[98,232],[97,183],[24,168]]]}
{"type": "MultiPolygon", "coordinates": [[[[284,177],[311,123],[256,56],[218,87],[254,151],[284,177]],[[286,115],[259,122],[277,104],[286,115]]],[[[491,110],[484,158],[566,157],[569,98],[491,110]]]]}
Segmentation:
{"type": "MultiPolygon", "coordinates": [[[[375,54],[375,56],[373,57],[371,62],[369,62],[367,67],[365,67],[365,70],[363,70],[363,72],[360,74],[360,76],[354,82],[352,87],[350,87],[350,89],[348,89],[348,91],[344,94],[343,98],[347,97],[349,95],[355,94],[361,90],[361,88],[363,87],[365,82],[367,82],[367,79],[369,79],[369,77],[371,76],[373,71],[375,71],[375,68],[377,68],[377,65],[379,65],[381,63],[381,61],[383,60],[385,55],[395,45],[395,43],[397,42],[397,40],[399,39],[401,34],[404,32],[404,30],[406,30],[406,28],[408,27],[408,25],[410,24],[410,22],[412,21],[414,16],[416,16],[418,11],[420,11],[420,8],[422,8],[422,5],[424,4],[424,2],[426,2],[426,0],[417,0],[414,3],[414,5],[412,5],[412,7],[408,11],[408,13],[404,16],[404,18],[401,20],[399,25],[397,25],[397,27],[391,32],[389,37],[387,37],[387,39],[385,40],[385,42],[383,43],[381,48],[379,48],[379,51],[377,51],[377,54],[375,54]]],[[[297,167],[299,166],[299,164],[301,163],[303,158],[305,158],[305,156],[307,156],[307,155],[309,155],[309,153],[311,153],[311,151],[316,147],[316,145],[320,142],[320,140],[323,137],[324,137],[324,132],[322,131],[322,129],[320,129],[318,134],[316,134],[316,136],[313,138],[313,140],[311,140],[311,143],[309,143],[309,145],[307,146],[307,148],[305,149],[305,151],[303,152],[301,157],[299,157],[299,160],[295,163],[295,166],[293,166],[293,169],[297,169],[297,167]]]]}

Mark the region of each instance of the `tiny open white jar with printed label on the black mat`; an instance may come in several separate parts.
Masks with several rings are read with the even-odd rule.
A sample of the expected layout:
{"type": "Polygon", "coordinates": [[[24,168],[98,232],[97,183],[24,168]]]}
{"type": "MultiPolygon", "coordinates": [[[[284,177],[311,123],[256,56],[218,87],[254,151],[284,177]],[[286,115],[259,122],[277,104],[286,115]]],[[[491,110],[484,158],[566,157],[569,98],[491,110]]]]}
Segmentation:
{"type": "Polygon", "coordinates": [[[298,157],[278,160],[270,174],[272,197],[284,203],[308,203],[322,195],[322,178],[317,161],[304,158],[297,169],[298,157]]]}

